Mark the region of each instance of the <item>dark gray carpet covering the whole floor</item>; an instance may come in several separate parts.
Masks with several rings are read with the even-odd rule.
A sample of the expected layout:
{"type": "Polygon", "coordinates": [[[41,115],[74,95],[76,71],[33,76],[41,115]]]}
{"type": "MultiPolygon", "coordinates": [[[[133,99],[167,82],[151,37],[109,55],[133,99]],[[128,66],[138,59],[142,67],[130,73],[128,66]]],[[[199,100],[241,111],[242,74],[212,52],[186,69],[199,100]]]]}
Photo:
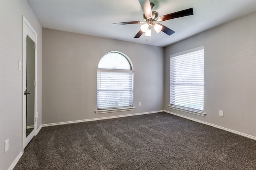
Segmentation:
{"type": "Polygon", "coordinates": [[[161,112],[43,127],[14,170],[256,170],[256,141],[161,112]]]}

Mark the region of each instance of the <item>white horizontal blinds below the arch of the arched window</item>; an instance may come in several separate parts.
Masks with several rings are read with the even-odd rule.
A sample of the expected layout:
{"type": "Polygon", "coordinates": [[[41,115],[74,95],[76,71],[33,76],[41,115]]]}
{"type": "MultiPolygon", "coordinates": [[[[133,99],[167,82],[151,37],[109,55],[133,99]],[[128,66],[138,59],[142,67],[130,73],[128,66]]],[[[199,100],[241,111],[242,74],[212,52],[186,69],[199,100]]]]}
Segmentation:
{"type": "Polygon", "coordinates": [[[97,108],[132,106],[133,73],[101,72],[97,74],[97,108]]]}

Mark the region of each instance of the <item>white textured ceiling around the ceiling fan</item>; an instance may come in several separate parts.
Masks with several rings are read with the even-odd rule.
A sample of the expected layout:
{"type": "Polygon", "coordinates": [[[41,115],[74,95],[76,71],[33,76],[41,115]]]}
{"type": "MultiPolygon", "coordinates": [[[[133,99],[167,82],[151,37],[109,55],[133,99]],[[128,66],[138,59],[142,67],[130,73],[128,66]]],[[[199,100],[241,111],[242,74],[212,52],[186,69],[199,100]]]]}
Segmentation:
{"type": "Polygon", "coordinates": [[[151,43],[146,36],[133,37],[141,24],[116,25],[125,21],[143,21],[138,0],[28,0],[44,28],[119,39],[165,47],[227,21],[256,11],[256,0],[151,0],[159,16],[193,8],[194,15],[162,21],[175,33],[152,30],[151,43]]]}

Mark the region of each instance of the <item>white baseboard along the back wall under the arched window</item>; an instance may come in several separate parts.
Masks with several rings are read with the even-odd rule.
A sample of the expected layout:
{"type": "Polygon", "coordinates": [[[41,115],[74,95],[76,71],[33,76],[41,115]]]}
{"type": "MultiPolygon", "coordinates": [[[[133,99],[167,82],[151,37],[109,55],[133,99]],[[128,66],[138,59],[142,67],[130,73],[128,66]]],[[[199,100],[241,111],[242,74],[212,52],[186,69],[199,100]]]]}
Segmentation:
{"type": "Polygon", "coordinates": [[[104,119],[114,119],[114,118],[119,118],[119,117],[128,117],[128,116],[135,116],[135,115],[145,115],[145,114],[150,114],[150,113],[158,113],[158,112],[162,112],[162,111],[163,110],[150,111],[150,112],[144,112],[144,113],[134,113],[134,114],[129,114],[129,115],[101,117],[101,118],[94,118],[94,119],[84,119],[84,120],[77,120],[77,121],[65,121],[65,122],[60,122],[60,123],[48,123],[48,124],[42,125],[42,127],[65,125],[65,124],[70,124],[70,123],[80,123],[80,122],[85,122],[85,121],[97,121],[97,120],[104,120],[104,119]]]}

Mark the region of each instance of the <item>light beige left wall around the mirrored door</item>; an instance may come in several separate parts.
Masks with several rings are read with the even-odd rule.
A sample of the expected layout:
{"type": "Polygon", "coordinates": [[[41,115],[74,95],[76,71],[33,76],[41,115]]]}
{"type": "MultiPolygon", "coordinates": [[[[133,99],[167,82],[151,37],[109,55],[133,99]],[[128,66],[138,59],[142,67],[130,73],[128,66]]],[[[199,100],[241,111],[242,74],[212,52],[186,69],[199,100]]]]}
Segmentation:
{"type": "Polygon", "coordinates": [[[42,27],[27,1],[0,0],[0,169],[7,170],[22,152],[22,15],[38,33],[37,127],[41,125],[42,27]],[[4,153],[4,141],[9,150],[4,153]]]}

